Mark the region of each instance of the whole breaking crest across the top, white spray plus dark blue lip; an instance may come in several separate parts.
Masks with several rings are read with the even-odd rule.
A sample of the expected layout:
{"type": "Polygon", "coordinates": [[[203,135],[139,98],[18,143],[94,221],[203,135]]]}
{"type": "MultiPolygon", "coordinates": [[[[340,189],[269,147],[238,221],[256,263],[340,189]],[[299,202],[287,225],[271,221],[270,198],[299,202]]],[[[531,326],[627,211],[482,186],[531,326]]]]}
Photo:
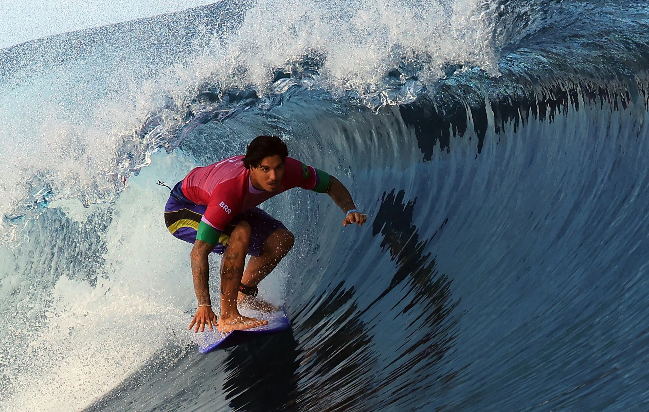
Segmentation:
{"type": "MultiPolygon", "coordinates": [[[[583,29],[580,16],[592,7],[553,8],[554,18],[545,21],[544,5],[314,3],[300,14],[275,2],[250,10],[243,3],[218,3],[3,49],[5,134],[16,141],[3,160],[12,164],[25,152],[54,154],[38,164],[24,159],[6,173],[16,190],[3,185],[10,199],[3,212],[12,221],[40,213],[38,206],[50,199],[112,201],[151,153],[175,149],[191,128],[252,107],[269,110],[296,89],[321,90],[374,112],[426,97],[460,122],[459,106],[477,110],[483,126],[487,100],[539,106],[543,116],[544,106],[553,111],[568,99],[576,104],[578,94],[591,103],[600,95],[623,106],[646,96],[641,8],[630,7],[616,20],[594,14],[591,30],[606,43],[594,51],[581,32],[566,30],[583,29]],[[407,24],[390,23],[395,16],[407,24]],[[437,16],[434,22],[431,16],[437,16]],[[335,30],[329,30],[334,21],[335,30]],[[559,23],[564,32],[547,39],[559,23]],[[620,27],[628,38],[615,38],[620,27]],[[515,34],[508,32],[512,28],[515,34]],[[563,44],[557,47],[556,40],[563,44]],[[502,51],[509,53],[498,62],[502,51]],[[349,60],[352,55],[356,60],[349,60]],[[61,159],[72,164],[63,167],[61,159]],[[85,167],[78,169],[80,164],[85,167]]],[[[10,223],[3,222],[5,238],[15,234],[10,223]]]]}

